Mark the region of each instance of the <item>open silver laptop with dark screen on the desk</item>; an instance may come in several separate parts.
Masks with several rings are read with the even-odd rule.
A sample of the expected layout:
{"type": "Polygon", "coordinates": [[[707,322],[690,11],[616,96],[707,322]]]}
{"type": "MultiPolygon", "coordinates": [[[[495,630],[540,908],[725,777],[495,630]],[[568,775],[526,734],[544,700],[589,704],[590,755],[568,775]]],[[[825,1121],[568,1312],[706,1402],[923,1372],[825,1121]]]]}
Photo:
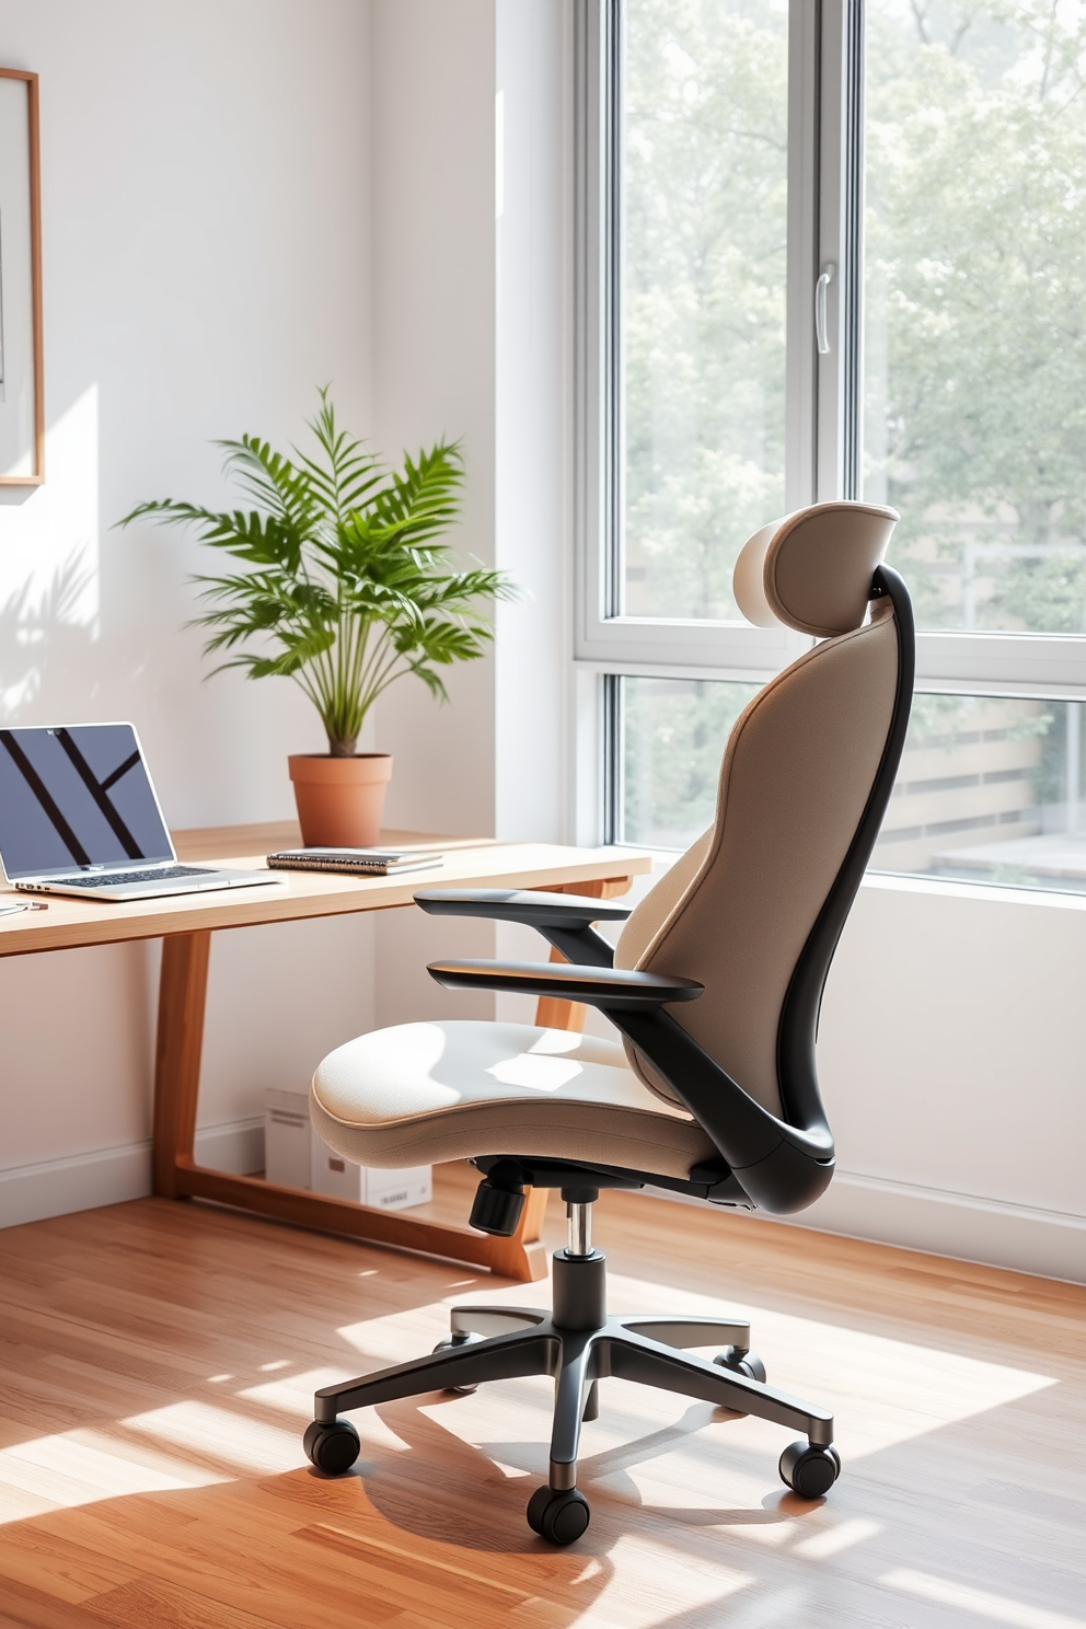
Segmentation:
{"type": "Polygon", "coordinates": [[[0,865],[15,888],[73,899],[285,881],[274,872],[177,863],[130,723],[0,730],[0,865]]]}

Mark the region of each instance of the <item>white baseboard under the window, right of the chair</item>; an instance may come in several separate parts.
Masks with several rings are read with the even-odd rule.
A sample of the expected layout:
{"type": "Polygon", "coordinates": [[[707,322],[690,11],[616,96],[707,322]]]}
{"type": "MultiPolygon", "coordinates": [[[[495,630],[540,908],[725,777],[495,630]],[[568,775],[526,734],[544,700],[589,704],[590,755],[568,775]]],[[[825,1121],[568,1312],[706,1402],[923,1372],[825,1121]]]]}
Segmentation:
{"type": "MultiPolygon", "coordinates": [[[[668,1194],[659,1188],[650,1192],[658,1199],[698,1204],[697,1199],[687,1201],[685,1194],[668,1194]]],[[[840,1233],[931,1256],[1086,1284],[1086,1217],[1065,1210],[1037,1210],[1001,1199],[837,1171],[809,1210],[793,1217],[772,1217],[760,1210],[757,1217],[759,1222],[809,1227],[817,1233],[840,1233]]]]}

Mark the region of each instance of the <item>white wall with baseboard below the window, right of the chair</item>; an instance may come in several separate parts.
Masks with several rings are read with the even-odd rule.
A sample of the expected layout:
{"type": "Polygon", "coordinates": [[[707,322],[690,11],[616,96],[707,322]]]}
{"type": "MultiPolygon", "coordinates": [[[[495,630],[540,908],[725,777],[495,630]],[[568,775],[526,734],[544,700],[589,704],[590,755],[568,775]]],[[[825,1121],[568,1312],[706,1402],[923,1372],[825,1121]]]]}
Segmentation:
{"type": "Polygon", "coordinates": [[[1086,1280],[1086,898],[868,878],[819,1075],[839,1171],[804,1225],[1086,1280]]]}

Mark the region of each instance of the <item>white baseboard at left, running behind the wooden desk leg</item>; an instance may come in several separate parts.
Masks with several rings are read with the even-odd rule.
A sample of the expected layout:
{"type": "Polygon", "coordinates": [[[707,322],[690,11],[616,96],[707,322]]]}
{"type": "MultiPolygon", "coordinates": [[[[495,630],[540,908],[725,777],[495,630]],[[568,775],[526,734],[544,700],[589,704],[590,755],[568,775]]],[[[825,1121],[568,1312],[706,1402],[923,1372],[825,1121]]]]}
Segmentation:
{"type": "MultiPolygon", "coordinates": [[[[195,1134],[195,1157],[217,1171],[247,1176],[264,1170],[264,1116],[208,1126],[195,1134]]],[[[67,1160],[42,1160],[0,1171],[0,1228],[73,1210],[96,1210],[151,1191],[150,1142],[98,1148],[67,1160]]]]}

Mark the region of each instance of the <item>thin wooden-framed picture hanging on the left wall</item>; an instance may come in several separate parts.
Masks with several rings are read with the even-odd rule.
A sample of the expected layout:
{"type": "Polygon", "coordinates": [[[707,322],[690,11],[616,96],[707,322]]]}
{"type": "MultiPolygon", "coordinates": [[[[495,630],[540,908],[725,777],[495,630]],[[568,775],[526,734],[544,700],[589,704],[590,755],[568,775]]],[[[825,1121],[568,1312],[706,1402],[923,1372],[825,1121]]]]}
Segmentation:
{"type": "Polygon", "coordinates": [[[46,479],[37,75],[0,68],[0,487],[46,479]]]}

